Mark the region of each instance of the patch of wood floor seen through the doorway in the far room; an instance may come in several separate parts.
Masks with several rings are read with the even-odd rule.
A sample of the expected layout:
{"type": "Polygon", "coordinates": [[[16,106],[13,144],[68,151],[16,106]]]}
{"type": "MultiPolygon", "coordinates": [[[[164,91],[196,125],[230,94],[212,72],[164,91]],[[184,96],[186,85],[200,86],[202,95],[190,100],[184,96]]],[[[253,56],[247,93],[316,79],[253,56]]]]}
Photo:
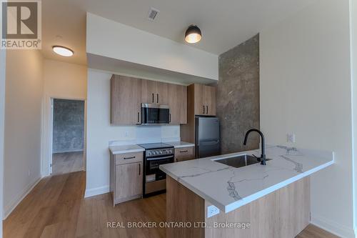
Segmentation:
{"type": "Polygon", "coordinates": [[[55,153],[52,155],[52,175],[83,170],[83,152],[55,153]]]}

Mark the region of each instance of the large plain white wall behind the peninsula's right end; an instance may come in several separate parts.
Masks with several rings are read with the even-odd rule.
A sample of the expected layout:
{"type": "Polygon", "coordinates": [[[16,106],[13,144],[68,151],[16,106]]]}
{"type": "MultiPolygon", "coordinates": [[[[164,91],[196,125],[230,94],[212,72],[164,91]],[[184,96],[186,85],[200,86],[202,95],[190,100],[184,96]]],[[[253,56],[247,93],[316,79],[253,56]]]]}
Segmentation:
{"type": "Polygon", "coordinates": [[[319,0],[261,32],[261,129],[267,143],[336,152],[311,179],[311,219],[353,235],[348,0],[319,0]]]}

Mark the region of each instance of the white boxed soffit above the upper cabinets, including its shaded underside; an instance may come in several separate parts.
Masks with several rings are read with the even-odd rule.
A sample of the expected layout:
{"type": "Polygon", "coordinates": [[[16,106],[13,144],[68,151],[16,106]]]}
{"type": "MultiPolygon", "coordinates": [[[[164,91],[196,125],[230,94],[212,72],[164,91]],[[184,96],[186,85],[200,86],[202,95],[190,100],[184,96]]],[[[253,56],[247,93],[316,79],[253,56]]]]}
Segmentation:
{"type": "Polygon", "coordinates": [[[218,81],[215,54],[90,13],[86,24],[89,68],[181,84],[218,81]]]}

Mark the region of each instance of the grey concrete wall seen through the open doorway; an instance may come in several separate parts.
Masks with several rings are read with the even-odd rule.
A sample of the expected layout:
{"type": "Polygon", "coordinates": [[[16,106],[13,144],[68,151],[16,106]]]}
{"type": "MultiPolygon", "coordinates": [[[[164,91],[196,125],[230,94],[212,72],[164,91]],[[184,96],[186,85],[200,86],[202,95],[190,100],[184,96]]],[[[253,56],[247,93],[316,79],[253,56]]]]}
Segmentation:
{"type": "Polygon", "coordinates": [[[54,99],[53,152],[80,152],[84,144],[84,101],[54,99]]]}

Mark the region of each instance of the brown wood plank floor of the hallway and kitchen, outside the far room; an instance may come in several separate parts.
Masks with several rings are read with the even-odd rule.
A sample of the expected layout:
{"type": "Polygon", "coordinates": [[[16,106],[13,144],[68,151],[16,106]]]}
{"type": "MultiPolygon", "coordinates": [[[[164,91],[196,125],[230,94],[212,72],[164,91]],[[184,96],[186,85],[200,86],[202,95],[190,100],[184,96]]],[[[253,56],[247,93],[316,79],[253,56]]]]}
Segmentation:
{"type": "MultiPolygon", "coordinates": [[[[110,194],[84,199],[85,181],[86,172],[42,179],[4,221],[4,237],[166,237],[164,228],[128,227],[129,222],[165,222],[166,194],[113,207],[110,194]],[[107,228],[107,222],[123,222],[126,228],[107,228]]],[[[312,225],[298,234],[333,237],[312,225]]]]}

